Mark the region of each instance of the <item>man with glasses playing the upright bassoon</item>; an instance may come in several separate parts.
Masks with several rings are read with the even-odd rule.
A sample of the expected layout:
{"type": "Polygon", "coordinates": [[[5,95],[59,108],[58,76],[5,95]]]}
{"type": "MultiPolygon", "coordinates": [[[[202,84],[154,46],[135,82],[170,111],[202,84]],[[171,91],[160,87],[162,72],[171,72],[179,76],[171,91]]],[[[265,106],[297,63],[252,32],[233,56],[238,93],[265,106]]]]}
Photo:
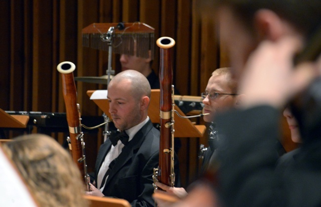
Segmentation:
{"type": "MultiPolygon", "coordinates": [[[[208,145],[207,150],[203,155],[203,163],[201,171],[204,171],[213,152],[216,149],[217,142],[217,129],[215,124],[212,122],[214,116],[218,112],[225,111],[226,109],[235,106],[240,101],[240,96],[236,96],[237,84],[231,79],[230,68],[219,68],[216,69],[212,76],[209,78],[205,92],[201,93],[204,104],[204,113],[209,115],[204,116],[203,119],[208,123],[208,145]]],[[[156,185],[163,191],[155,190],[158,193],[169,194],[178,198],[183,198],[187,195],[184,188],[169,187],[160,182],[156,185]]],[[[165,201],[156,199],[159,207],[167,206],[165,201]]]]}

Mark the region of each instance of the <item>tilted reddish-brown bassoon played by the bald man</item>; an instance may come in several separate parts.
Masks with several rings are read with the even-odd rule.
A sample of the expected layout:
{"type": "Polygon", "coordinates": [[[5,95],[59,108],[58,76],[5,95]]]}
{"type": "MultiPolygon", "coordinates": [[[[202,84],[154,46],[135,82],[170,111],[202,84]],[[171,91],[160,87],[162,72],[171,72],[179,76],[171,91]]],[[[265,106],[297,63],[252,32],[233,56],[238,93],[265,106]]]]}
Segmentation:
{"type": "Polygon", "coordinates": [[[89,175],[87,174],[86,157],[84,151],[83,133],[81,131],[80,106],[77,104],[77,90],[73,71],[76,66],[72,62],[61,62],[57,70],[61,73],[62,91],[64,95],[67,123],[69,128],[69,149],[74,163],[80,169],[81,176],[84,178],[87,191],[89,191],[89,175]]]}

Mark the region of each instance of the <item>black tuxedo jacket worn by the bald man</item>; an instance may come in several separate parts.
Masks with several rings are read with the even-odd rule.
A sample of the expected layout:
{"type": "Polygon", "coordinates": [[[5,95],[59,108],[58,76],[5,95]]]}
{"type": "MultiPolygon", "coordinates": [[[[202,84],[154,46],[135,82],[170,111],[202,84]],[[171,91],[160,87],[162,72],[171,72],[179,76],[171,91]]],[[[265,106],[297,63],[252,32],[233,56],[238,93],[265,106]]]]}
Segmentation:
{"type": "MultiPolygon", "coordinates": [[[[111,146],[109,139],[101,145],[95,165],[95,178],[111,146]]],[[[108,197],[125,199],[132,206],[153,207],[152,175],[154,167],[159,165],[159,148],[160,131],[149,121],[122,148],[108,176],[103,194],[108,197]]]]}

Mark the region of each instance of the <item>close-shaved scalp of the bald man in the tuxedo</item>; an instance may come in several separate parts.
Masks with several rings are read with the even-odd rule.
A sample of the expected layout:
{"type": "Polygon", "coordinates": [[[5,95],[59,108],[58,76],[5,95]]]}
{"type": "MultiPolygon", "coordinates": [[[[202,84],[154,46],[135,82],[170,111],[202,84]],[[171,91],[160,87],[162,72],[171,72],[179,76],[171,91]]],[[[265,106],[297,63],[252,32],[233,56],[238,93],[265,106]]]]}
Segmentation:
{"type": "Polygon", "coordinates": [[[151,98],[151,85],[147,78],[138,71],[125,70],[117,74],[111,82],[120,82],[122,80],[130,80],[132,95],[136,100],[143,96],[151,98]]]}

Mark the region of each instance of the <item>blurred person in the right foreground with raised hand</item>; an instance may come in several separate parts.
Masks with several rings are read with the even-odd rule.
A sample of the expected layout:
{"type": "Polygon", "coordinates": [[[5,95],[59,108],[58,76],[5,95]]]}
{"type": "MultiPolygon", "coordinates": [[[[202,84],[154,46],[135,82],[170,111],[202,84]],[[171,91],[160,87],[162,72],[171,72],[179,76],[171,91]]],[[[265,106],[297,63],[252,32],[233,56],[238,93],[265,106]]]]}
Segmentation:
{"type": "MultiPolygon", "coordinates": [[[[216,117],[218,170],[200,182],[211,182],[214,195],[228,207],[321,206],[321,1],[206,2],[216,3],[211,12],[218,15],[238,93],[246,98],[241,109],[216,117]],[[275,140],[288,102],[302,145],[295,166],[280,175],[275,140]]],[[[200,206],[191,198],[177,206],[200,206]]]]}

